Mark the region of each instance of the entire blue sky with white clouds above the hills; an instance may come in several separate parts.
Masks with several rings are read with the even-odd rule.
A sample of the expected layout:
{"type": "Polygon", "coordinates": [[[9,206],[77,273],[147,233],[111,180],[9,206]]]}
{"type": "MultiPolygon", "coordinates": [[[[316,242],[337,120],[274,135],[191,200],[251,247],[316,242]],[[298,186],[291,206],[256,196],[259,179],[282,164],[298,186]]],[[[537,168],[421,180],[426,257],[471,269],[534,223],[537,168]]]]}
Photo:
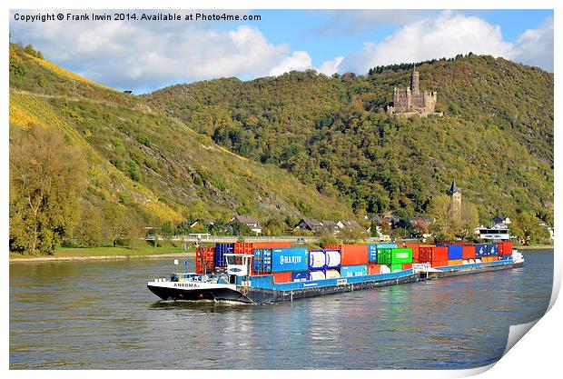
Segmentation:
{"type": "MultiPolygon", "coordinates": [[[[113,15],[112,11],[94,11],[113,15]]],[[[16,20],[11,41],[98,83],[143,94],[219,77],[250,80],[314,69],[365,75],[376,65],[458,54],[502,56],[553,72],[552,10],[252,10],[253,21],[142,21],[141,15],[224,11],[134,11],[129,21],[16,20]]]]}

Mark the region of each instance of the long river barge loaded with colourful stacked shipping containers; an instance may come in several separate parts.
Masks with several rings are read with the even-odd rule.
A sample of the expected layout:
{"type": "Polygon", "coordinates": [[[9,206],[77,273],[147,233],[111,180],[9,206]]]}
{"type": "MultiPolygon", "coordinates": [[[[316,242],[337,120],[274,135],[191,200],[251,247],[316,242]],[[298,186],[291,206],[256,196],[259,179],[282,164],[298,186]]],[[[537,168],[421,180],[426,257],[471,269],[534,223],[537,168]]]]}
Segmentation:
{"type": "MultiPolygon", "coordinates": [[[[496,244],[216,244],[196,249],[195,273],[147,284],[163,300],[270,304],[524,264],[510,242],[496,244]]],[[[176,270],[177,271],[177,270],[176,270]]]]}

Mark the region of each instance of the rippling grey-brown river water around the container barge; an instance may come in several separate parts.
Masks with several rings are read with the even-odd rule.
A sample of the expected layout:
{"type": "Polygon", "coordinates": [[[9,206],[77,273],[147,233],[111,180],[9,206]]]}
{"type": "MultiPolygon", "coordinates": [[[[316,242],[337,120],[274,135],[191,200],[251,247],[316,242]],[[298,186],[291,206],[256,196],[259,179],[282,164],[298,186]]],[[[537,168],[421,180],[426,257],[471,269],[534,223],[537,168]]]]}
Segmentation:
{"type": "Polygon", "coordinates": [[[158,302],[146,282],[170,258],[10,264],[10,368],[478,367],[547,309],[553,251],[524,254],[519,269],[269,305],[158,302]]]}

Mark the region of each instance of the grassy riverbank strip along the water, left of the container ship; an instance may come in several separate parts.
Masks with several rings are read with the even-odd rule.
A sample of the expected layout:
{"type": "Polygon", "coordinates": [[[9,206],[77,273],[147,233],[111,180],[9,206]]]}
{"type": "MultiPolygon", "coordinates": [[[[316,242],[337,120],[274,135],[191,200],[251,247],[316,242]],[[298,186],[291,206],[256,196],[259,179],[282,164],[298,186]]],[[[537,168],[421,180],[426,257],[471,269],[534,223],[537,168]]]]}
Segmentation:
{"type": "Polygon", "coordinates": [[[53,255],[22,255],[10,253],[10,263],[15,262],[53,262],[53,261],[90,261],[130,258],[162,258],[162,257],[191,257],[195,256],[193,248],[187,251],[183,247],[88,247],[73,248],[60,247],[53,255]]]}

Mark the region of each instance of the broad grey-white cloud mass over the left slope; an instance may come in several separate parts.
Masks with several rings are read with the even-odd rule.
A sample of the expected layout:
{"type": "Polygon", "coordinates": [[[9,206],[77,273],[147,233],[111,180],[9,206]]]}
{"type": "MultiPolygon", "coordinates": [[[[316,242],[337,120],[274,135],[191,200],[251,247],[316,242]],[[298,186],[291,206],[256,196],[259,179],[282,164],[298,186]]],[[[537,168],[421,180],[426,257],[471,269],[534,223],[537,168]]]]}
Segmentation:
{"type": "Polygon", "coordinates": [[[286,59],[301,60],[304,55],[311,66],[307,53],[290,55],[288,45],[273,45],[250,25],[218,30],[209,23],[190,22],[13,22],[10,32],[13,40],[32,42],[54,63],[123,89],[263,76],[286,59]]]}

